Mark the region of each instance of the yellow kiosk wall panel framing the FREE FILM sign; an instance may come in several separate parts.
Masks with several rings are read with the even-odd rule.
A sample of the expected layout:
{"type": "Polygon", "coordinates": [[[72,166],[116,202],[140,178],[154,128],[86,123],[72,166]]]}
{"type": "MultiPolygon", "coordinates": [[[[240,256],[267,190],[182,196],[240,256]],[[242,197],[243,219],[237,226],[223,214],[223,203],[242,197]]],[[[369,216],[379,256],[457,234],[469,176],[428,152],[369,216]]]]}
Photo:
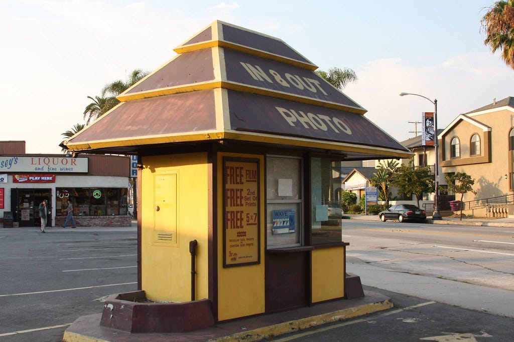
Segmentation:
{"type": "Polygon", "coordinates": [[[265,311],[264,296],[264,157],[262,155],[247,155],[219,153],[217,158],[218,174],[218,230],[217,230],[217,265],[218,265],[218,320],[226,320],[263,313],[265,311]],[[258,265],[223,267],[223,157],[258,158],[259,169],[259,205],[260,205],[260,239],[261,263],[258,265]]]}

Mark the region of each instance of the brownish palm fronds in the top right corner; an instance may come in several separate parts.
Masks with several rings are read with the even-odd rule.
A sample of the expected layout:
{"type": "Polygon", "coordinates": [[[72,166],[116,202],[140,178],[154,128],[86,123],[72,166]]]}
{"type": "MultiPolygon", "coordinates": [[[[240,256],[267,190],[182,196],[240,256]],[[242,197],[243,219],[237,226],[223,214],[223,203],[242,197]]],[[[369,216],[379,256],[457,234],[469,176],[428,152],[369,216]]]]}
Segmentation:
{"type": "Polygon", "coordinates": [[[514,69],[514,0],[502,0],[489,7],[481,21],[486,34],[484,45],[492,52],[502,50],[505,64],[514,69]]]}

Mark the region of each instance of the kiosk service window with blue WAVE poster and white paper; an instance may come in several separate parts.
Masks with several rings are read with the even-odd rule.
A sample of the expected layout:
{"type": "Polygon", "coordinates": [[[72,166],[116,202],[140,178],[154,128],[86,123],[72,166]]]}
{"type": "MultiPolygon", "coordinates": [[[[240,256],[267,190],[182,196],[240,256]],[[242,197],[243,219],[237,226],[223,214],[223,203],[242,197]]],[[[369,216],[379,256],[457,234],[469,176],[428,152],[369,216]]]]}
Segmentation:
{"type": "Polygon", "coordinates": [[[303,244],[302,159],[266,158],[267,248],[303,244]]]}

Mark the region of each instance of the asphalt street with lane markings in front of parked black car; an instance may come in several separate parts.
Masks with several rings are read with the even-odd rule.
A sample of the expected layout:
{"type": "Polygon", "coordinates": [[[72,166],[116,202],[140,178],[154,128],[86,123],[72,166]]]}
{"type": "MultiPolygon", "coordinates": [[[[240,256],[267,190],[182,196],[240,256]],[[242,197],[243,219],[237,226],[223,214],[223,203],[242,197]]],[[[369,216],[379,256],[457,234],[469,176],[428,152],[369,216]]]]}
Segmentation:
{"type": "Polygon", "coordinates": [[[369,265],[514,291],[514,228],[351,220],[343,239],[369,265]]]}

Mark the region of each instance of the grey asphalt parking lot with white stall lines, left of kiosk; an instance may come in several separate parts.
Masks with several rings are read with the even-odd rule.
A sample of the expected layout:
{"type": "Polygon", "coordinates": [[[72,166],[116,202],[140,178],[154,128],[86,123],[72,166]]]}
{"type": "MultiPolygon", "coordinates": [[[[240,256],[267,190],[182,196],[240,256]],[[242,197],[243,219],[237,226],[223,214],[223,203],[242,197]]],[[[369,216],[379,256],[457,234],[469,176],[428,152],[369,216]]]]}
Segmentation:
{"type": "Polygon", "coordinates": [[[137,289],[135,228],[2,228],[0,251],[0,341],[60,341],[104,297],[137,289]]]}

